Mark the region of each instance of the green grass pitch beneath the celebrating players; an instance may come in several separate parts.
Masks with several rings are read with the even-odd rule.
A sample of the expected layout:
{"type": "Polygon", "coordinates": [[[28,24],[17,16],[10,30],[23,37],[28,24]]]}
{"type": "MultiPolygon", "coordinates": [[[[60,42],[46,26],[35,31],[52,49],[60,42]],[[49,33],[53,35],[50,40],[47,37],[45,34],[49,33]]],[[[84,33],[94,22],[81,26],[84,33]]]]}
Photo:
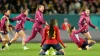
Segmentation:
{"type": "MultiPolygon", "coordinates": [[[[95,44],[92,50],[77,50],[77,47],[73,43],[66,43],[65,49],[66,56],[100,56],[100,43],[95,44]]],[[[1,43],[0,43],[1,46],[1,43]]],[[[10,50],[0,50],[0,56],[39,56],[41,49],[39,43],[27,43],[29,50],[23,50],[21,43],[14,43],[10,46],[10,50]]]]}

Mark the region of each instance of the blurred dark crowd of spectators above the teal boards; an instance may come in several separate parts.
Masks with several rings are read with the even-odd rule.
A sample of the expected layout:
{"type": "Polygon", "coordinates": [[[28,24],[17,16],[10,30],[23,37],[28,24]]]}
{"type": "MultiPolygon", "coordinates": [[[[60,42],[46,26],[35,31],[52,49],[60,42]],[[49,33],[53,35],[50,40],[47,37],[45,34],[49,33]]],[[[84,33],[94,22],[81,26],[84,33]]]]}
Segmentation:
{"type": "Polygon", "coordinates": [[[29,9],[35,13],[39,4],[45,6],[44,14],[78,14],[82,7],[90,9],[91,14],[100,14],[100,0],[0,0],[0,13],[10,8],[12,13],[29,9]]]}

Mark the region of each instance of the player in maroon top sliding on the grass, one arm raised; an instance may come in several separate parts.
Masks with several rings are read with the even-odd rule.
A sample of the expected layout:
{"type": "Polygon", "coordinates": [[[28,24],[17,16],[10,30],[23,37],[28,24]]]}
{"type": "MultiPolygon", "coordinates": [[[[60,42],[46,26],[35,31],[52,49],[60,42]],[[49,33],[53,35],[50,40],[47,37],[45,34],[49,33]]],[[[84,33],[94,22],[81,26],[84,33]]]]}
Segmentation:
{"type": "Polygon", "coordinates": [[[89,50],[90,47],[96,43],[94,40],[86,40],[78,35],[85,27],[86,25],[84,25],[79,30],[76,30],[74,26],[71,26],[69,28],[70,38],[78,46],[78,50],[83,50],[83,49],[89,50]]]}

